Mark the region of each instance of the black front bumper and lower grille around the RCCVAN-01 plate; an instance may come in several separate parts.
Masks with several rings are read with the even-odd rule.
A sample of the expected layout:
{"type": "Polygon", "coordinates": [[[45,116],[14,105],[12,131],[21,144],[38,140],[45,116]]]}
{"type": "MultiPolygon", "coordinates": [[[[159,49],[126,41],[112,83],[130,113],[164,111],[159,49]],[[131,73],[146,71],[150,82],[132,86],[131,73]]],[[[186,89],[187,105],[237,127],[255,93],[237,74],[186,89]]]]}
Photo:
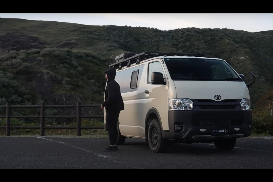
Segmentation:
{"type": "Polygon", "coordinates": [[[241,110],[238,101],[232,107],[214,107],[211,103],[207,106],[194,105],[193,111],[168,111],[169,131],[162,131],[162,137],[193,143],[250,136],[251,110],[241,110]],[[215,133],[222,131],[217,128],[224,132],[215,133]]]}

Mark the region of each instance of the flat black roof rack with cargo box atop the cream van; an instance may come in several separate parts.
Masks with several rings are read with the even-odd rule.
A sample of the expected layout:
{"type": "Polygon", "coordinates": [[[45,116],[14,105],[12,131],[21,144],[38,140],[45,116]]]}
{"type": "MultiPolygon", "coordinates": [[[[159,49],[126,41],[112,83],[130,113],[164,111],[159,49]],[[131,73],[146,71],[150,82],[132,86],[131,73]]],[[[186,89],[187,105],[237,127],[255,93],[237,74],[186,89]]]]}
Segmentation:
{"type": "MultiPolygon", "coordinates": [[[[195,56],[195,57],[204,57],[205,54],[191,54],[191,53],[170,53],[170,52],[142,52],[139,54],[134,53],[127,53],[127,54],[121,54],[120,56],[123,57],[121,61],[116,60],[116,63],[110,64],[109,67],[113,67],[115,69],[121,69],[123,66],[131,66],[132,63],[140,63],[140,61],[143,61],[145,59],[157,57],[157,56],[195,56]],[[126,55],[133,55],[131,57],[125,57],[126,55]],[[125,59],[124,59],[125,58],[125,59]]],[[[117,56],[117,57],[120,57],[117,56]]]]}

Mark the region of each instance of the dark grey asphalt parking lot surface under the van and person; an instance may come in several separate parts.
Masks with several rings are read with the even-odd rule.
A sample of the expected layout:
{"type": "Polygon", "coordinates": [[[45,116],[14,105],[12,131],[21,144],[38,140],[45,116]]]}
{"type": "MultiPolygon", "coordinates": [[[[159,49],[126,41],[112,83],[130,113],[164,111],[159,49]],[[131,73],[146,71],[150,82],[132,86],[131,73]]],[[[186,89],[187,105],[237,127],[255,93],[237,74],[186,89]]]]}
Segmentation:
{"type": "Polygon", "coordinates": [[[144,139],[127,138],[103,152],[108,145],[108,138],[0,136],[0,169],[273,169],[273,137],[238,138],[231,151],[194,143],[153,153],[144,139]]]}

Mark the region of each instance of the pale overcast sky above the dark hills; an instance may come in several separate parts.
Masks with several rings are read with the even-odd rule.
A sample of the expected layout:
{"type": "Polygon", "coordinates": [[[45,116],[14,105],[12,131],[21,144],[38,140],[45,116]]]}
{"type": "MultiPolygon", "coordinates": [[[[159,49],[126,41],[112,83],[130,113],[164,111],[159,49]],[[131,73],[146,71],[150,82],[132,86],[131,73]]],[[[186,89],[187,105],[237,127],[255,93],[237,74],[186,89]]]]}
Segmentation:
{"type": "Polygon", "coordinates": [[[273,13],[0,13],[0,18],[21,18],[83,25],[178,28],[229,28],[248,32],[273,30],[273,13]]]}

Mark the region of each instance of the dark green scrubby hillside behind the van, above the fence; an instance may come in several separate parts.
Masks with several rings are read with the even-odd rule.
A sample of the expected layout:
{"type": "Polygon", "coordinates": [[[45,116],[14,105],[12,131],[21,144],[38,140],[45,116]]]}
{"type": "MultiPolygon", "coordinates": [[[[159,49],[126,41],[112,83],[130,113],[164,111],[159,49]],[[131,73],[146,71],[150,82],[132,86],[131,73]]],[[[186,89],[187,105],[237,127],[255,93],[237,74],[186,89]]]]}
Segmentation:
{"type": "MultiPolygon", "coordinates": [[[[226,60],[250,87],[252,103],[273,89],[273,33],[182,28],[162,31],[0,18],[0,105],[100,104],[104,71],[124,52],[201,53],[226,60]]],[[[99,111],[98,111],[99,112],[99,111]]]]}

